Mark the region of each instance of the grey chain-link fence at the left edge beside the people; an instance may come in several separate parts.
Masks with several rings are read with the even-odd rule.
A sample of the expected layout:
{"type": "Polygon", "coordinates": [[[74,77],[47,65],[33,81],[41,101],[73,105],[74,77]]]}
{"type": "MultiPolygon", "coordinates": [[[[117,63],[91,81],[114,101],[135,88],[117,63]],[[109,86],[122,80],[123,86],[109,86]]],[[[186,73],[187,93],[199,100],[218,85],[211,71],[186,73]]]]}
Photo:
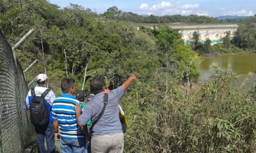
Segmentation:
{"type": "Polygon", "coordinates": [[[33,133],[29,112],[22,108],[27,93],[20,63],[15,64],[12,48],[0,31],[0,153],[21,152],[33,133]]]}

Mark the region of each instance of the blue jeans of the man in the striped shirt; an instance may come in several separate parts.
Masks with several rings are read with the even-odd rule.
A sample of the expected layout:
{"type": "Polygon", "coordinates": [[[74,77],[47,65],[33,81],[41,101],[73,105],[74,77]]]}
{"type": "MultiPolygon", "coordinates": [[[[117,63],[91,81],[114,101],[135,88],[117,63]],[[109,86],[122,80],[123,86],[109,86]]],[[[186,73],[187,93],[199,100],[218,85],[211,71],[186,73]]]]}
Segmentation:
{"type": "Polygon", "coordinates": [[[60,149],[62,153],[86,153],[85,139],[60,138],[60,149]]]}

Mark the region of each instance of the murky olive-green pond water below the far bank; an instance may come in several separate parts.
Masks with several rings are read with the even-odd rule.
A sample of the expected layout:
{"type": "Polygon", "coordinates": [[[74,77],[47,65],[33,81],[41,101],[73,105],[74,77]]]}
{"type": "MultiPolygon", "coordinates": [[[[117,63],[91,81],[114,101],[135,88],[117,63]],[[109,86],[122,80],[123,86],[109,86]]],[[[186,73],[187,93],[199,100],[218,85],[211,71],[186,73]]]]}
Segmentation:
{"type": "MultiPolygon", "coordinates": [[[[250,71],[256,70],[256,54],[228,54],[219,55],[212,58],[202,57],[200,64],[201,79],[207,80],[214,72],[213,66],[218,68],[227,68],[236,71],[239,78],[239,84],[242,84],[250,71]]],[[[253,87],[256,81],[256,73],[252,73],[252,77],[248,78],[248,87],[253,87]]]]}

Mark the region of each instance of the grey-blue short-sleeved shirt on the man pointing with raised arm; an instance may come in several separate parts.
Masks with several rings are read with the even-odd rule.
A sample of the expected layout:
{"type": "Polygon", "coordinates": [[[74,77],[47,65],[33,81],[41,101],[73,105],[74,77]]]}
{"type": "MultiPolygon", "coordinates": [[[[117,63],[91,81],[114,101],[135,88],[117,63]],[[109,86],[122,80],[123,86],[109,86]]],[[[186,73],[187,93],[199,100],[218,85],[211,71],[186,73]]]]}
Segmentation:
{"type": "MultiPolygon", "coordinates": [[[[86,104],[83,113],[78,118],[78,121],[85,125],[88,120],[92,119],[92,122],[97,119],[99,113],[104,106],[103,97],[105,92],[102,91],[96,94],[94,98],[86,104]]],[[[108,105],[100,118],[100,120],[93,127],[92,137],[98,135],[111,135],[114,133],[122,133],[122,126],[118,115],[118,102],[119,99],[124,96],[124,87],[120,86],[108,93],[108,105]]]]}

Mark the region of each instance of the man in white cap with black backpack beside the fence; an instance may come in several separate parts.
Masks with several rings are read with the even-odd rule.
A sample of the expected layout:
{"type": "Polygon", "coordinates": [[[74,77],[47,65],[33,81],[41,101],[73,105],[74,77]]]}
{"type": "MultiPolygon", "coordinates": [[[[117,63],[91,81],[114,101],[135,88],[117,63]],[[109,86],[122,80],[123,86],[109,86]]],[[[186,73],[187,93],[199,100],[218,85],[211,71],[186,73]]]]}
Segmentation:
{"type": "Polygon", "coordinates": [[[37,85],[29,90],[26,100],[24,102],[24,109],[29,109],[29,105],[31,104],[32,95],[41,96],[45,91],[46,96],[45,99],[47,100],[47,108],[49,111],[49,119],[46,124],[44,125],[36,125],[34,124],[35,131],[36,131],[36,139],[38,144],[38,152],[55,152],[56,146],[54,145],[54,130],[52,124],[52,103],[54,99],[56,99],[55,94],[52,90],[47,90],[47,75],[39,74],[37,76],[37,85]],[[47,144],[47,149],[45,149],[45,140],[47,144]]]}

